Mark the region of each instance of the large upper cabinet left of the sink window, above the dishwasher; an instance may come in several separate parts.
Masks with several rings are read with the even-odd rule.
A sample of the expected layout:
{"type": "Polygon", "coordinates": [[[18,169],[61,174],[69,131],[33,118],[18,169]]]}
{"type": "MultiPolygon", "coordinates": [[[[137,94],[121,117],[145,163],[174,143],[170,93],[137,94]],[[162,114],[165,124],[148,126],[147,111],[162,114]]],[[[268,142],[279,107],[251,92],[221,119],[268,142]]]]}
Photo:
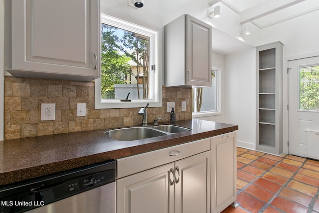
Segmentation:
{"type": "Polygon", "coordinates": [[[11,6],[6,16],[9,73],[84,81],[99,77],[99,0],[14,0],[6,6],[11,6]]]}

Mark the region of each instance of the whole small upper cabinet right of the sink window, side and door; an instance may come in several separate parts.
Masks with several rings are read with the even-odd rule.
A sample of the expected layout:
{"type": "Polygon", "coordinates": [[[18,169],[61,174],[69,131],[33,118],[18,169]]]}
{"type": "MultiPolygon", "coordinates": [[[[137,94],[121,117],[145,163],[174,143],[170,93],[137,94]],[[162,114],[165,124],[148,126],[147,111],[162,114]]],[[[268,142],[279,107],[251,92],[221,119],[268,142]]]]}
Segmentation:
{"type": "Polygon", "coordinates": [[[212,27],[184,14],[164,30],[165,86],[211,86],[212,27]]]}

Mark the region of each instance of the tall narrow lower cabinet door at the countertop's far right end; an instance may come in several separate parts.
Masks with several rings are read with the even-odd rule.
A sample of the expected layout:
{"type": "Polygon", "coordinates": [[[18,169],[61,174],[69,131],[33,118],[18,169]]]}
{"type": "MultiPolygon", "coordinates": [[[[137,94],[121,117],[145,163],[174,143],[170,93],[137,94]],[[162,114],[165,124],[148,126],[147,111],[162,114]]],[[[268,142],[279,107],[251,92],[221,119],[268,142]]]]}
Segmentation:
{"type": "Polygon", "coordinates": [[[236,201],[236,133],[211,138],[212,213],[236,201]]]}

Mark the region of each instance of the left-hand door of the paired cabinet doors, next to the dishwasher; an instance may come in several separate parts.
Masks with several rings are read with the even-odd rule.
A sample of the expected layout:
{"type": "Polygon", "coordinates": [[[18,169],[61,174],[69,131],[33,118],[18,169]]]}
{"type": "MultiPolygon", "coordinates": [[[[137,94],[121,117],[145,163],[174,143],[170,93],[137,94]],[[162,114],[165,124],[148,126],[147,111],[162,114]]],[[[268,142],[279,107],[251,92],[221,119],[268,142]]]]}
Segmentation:
{"type": "Polygon", "coordinates": [[[117,213],[173,213],[173,167],[171,163],[117,180],[117,213]]]}

